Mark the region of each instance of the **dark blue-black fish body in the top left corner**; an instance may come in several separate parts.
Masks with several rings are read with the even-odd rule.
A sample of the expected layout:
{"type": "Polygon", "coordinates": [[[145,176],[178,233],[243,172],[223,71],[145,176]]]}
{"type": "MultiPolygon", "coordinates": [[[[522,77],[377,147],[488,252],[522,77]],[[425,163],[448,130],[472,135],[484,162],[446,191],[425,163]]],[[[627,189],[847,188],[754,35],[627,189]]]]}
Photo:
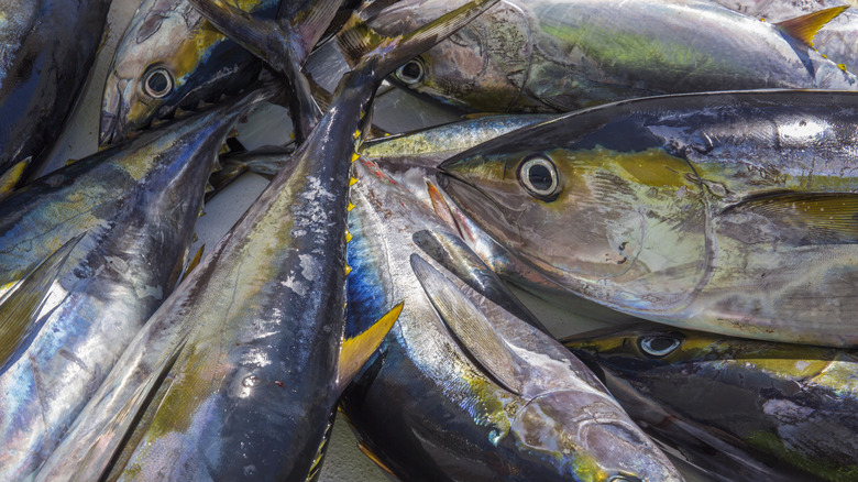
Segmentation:
{"type": "Polygon", "coordinates": [[[0,1],[0,175],[43,162],[84,87],[110,0],[0,1]]]}

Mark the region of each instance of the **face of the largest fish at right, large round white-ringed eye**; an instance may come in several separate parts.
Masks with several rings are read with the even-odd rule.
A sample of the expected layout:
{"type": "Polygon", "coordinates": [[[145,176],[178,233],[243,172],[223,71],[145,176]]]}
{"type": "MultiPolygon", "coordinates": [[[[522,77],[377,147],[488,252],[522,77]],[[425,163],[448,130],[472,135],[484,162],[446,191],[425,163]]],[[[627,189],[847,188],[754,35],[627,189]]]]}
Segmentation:
{"type": "Polygon", "coordinates": [[[647,155],[531,149],[527,135],[444,162],[439,184],[490,237],[552,277],[618,278],[632,270],[651,222],[648,210],[659,200],[626,167],[646,164],[647,155]]]}

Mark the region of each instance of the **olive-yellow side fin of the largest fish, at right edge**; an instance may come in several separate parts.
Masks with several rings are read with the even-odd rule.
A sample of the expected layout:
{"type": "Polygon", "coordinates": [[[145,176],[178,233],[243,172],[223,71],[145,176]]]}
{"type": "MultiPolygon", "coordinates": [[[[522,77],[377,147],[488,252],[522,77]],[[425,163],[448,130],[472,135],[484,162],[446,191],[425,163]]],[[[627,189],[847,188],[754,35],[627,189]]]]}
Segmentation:
{"type": "Polygon", "coordinates": [[[759,196],[726,208],[718,216],[740,216],[779,243],[793,245],[858,243],[858,194],[783,193],[759,196]]]}

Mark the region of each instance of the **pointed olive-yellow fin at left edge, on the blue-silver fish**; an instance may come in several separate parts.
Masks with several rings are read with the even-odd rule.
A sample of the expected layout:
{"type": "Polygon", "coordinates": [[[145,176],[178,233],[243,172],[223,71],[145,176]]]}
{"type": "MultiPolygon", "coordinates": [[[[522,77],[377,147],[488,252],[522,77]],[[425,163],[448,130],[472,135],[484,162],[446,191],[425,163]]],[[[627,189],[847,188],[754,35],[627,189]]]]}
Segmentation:
{"type": "Polygon", "coordinates": [[[66,241],[0,298],[0,366],[6,365],[33,335],[38,311],[51,294],[51,285],[84,235],[66,241]]]}

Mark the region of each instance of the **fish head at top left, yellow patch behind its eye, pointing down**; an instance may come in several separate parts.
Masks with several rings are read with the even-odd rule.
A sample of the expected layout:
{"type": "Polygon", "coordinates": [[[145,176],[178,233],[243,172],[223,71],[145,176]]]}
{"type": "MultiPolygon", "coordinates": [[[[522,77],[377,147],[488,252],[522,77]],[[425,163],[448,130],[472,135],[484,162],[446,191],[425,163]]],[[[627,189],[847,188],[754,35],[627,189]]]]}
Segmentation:
{"type": "MultiPolygon", "coordinates": [[[[237,3],[264,17],[274,17],[279,6],[278,0],[237,3]]],[[[258,59],[218,32],[187,0],[144,0],[108,69],[99,144],[120,141],[176,108],[194,110],[201,101],[248,88],[261,68],[258,59]],[[150,79],[154,87],[166,87],[147,88],[150,79]]]]}

